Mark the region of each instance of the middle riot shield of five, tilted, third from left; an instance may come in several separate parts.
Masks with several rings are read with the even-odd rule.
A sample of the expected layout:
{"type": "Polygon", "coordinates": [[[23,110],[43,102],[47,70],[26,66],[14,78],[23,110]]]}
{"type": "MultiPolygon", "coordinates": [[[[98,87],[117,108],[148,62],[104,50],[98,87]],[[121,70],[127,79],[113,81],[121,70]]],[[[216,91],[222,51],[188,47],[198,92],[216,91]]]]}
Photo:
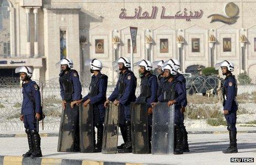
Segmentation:
{"type": "Polygon", "coordinates": [[[109,103],[106,108],[103,130],[102,153],[116,153],[118,146],[118,124],[120,106],[109,103]]]}

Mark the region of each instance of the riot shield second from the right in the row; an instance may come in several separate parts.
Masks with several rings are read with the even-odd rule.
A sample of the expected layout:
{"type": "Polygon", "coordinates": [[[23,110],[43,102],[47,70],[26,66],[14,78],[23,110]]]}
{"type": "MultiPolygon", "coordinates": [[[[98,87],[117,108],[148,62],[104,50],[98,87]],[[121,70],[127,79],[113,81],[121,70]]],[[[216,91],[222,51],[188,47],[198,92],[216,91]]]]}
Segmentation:
{"type": "Polygon", "coordinates": [[[149,153],[146,102],[131,103],[132,153],[149,153]]]}

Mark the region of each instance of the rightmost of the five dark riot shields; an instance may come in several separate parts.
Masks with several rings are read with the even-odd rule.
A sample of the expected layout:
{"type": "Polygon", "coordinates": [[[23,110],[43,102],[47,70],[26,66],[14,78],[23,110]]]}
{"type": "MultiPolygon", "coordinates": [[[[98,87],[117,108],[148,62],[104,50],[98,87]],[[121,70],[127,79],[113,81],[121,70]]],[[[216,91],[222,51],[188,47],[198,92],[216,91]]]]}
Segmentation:
{"type": "Polygon", "coordinates": [[[167,102],[153,108],[152,154],[164,155],[174,151],[174,106],[167,102]]]}

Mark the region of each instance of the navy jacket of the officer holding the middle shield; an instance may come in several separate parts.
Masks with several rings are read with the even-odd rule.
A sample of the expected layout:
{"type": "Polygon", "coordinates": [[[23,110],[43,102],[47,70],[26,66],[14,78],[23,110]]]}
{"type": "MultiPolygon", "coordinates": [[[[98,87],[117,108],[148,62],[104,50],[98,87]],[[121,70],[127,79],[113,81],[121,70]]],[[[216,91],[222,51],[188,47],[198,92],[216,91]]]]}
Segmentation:
{"type": "Polygon", "coordinates": [[[108,100],[112,102],[119,100],[122,105],[129,106],[131,102],[136,101],[136,85],[137,78],[131,70],[126,70],[125,73],[120,72],[118,83],[108,100]]]}

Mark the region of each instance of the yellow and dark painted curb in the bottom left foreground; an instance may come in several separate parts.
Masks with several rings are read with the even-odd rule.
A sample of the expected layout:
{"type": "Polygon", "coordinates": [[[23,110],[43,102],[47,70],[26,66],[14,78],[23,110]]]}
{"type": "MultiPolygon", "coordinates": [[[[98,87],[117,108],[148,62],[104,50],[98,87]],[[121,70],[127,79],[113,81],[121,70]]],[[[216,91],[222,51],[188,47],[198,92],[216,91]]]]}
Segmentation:
{"type": "Polygon", "coordinates": [[[60,158],[24,158],[22,156],[0,156],[0,164],[43,164],[43,165],[142,165],[142,163],[124,163],[124,162],[101,162],[90,160],[71,160],[60,158]]]}

